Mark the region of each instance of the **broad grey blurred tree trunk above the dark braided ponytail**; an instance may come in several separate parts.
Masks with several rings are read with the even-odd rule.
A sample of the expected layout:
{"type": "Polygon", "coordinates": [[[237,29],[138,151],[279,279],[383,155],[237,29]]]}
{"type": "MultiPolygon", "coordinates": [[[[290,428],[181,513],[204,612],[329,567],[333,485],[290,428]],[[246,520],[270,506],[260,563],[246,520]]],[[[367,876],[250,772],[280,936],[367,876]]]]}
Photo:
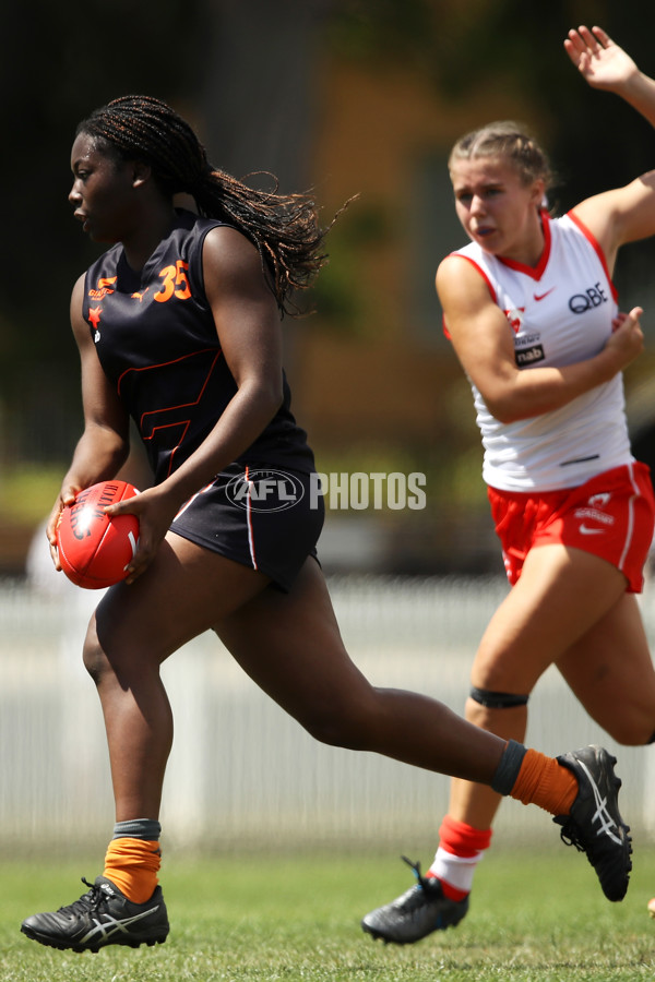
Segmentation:
{"type": "Polygon", "coordinates": [[[308,187],[315,67],[322,27],[335,5],[336,0],[204,0],[199,108],[217,167],[236,177],[270,171],[283,192],[308,187]]]}

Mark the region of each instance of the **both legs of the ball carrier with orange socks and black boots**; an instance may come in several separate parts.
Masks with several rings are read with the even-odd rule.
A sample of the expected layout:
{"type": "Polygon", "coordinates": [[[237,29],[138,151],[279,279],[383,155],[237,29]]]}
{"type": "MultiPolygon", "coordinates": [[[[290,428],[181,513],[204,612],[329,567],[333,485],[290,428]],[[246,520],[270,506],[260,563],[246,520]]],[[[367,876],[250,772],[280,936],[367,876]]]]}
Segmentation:
{"type": "MultiPolygon", "coordinates": [[[[592,757],[584,751],[556,762],[517,744],[505,745],[432,699],[376,690],[343,649],[322,575],[312,560],[287,597],[262,589],[264,584],[246,567],[172,537],[147,574],[103,602],[86,658],[100,690],[110,742],[118,747],[111,754],[112,778],[126,810],[117,814],[158,807],[158,777],[146,779],[141,790],[136,787],[150,768],[150,752],[164,747],[155,759],[156,775],[163,774],[168,753],[169,711],[158,666],[174,647],[217,618],[222,637],[245,669],[319,739],[476,781],[495,781],[499,792],[570,816],[571,835],[587,852],[605,893],[624,893],[630,840],[618,812],[614,762],[605,752],[592,749],[592,757]],[[128,589],[140,595],[139,603],[124,599],[136,596],[128,595],[128,589]],[[145,615],[145,627],[139,620],[143,611],[152,611],[145,615]],[[165,630],[158,630],[158,614],[164,615],[165,630]],[[615,845],[607,835],[602,839],[595,835],[596,812],[591,806],[594,792],[598,793],[595,783],[610,803],[608,827],[619,836],[615,845]]],[[[145,841],[145,835],[156,819],[141,812],[122,821],[138,827],[130,842],[135,854],[122,858],[143,873],[148,866],[144,850],[151,852],[150,861],[151,847],[156,847],[156,840],[145,841]]],[[[112,858],[110,869],[115,864],[112,858]]],[[[145,872],[152,873],[152,866],[145,872]]],[[[75,905],[28,918],[23,931],[44,944],[73,950],[163,941],[168,923],[158,890],[139,903],[117,891],[111,877],[100,877],[75,905]]]]}

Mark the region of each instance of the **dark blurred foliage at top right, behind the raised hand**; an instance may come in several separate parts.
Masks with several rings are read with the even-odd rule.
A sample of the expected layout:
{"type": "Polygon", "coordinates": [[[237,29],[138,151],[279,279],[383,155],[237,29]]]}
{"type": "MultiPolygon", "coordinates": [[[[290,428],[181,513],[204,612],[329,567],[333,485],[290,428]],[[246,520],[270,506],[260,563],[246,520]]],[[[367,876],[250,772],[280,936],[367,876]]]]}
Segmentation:
{"type": "MultiPolygon", "coordinates": [[[[561,212],[654,166],[651,127],[576,80],[562,43],[581,23],[600,24],[653,74],[655,4],[641,0],[347,0],[330,39],[372,71],[405,65],[453,104],[483,93],[489,79],[496,89],[520,91],[559,175],[551,204],[561,212]]],[[[617,283],[631,302],[645,302],[639,296],[651,290],[654,261],[655,240],[623,251],[617,283]]]]}

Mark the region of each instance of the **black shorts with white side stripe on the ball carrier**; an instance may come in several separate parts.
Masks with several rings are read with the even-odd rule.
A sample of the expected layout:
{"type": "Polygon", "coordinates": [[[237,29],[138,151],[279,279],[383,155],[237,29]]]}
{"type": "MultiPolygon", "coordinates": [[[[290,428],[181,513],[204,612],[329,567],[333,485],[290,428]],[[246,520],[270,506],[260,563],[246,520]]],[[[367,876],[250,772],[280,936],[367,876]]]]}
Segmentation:
{"type": "Polygon", "coordinates": [[[231,464],[182,505],[170,530],[259,570],[288,592],[325,515],[315,475],[231,464]]]}

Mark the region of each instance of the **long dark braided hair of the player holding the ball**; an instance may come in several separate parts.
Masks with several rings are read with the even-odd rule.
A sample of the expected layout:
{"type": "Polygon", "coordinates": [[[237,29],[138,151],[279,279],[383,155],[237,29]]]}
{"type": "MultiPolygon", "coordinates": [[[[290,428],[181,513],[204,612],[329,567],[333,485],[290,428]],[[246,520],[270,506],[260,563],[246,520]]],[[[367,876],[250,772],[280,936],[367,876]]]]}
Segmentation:
{"type": "Polygon", "coordinates": [[[311,286],[326,262],[327,228],[321,228],[309,194],[259,191],[213,167],[193,129],[170,106],[151,96],[122,96],[94,110],[75,131],[120,159],[141,159],[168,195],[190,194],[200,215],[238,228],[257,247],[281,313],[298,313],[294,290],[311,286]]]}

